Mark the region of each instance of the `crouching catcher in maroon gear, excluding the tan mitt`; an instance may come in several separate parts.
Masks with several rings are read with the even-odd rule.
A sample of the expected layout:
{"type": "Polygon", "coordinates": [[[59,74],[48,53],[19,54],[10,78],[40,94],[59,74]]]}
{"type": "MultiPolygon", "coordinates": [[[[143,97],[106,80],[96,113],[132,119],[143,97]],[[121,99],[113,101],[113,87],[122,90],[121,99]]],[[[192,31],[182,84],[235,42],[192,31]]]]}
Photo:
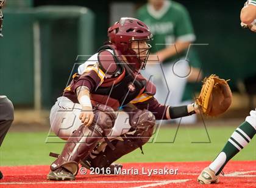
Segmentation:
{"type": "Polygon", "coordinates": [[[164,106],[154,98],[154,84],[140,74],[151,49],[147,25],[121,18],[108,29],[108,37],[108,44],[80,65],[80,72],[51,109],[52,130],[67,142],[51,164],[48,180],[74,180],[79,163],[121,167],[112,163],[147,143],[155,119],[199,112],[194,104],[164,106]],[[128,126],[125,121],[117,123],[121,112],[123,119],[129,117],[128,126]]]}

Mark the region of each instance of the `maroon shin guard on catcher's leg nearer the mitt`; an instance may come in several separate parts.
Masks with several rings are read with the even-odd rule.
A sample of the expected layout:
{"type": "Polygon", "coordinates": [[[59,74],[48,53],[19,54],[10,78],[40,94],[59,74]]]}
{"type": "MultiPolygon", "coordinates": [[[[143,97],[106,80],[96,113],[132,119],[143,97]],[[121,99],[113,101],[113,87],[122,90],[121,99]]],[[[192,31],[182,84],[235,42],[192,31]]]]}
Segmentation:
{"type": "Polygon", "coordinates": [[[84,163],[90,163],[91,167],[109,167],[110,164],[115,162],[121,156],[132,152],[135,149],[140,148],[142,151],[142,146],[148,142],[151,138],[154,125],[155,116],[148,110],[134,110],[134,112],[129,113],[130,115],[130,125],[132,130],[135,130],[133,135],[121,135],[120,137],[123,141],[115,139],[112,141],[115,150],[106,146],[105,150],[98,153],[96,158],[83,159],[84,163]]]}

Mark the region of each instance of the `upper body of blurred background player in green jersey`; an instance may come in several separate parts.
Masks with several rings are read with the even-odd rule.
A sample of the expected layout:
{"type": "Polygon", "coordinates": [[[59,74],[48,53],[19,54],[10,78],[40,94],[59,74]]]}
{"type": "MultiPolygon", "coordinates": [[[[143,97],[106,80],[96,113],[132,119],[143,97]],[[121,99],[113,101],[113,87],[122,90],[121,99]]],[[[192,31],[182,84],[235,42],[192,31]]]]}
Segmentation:
{"type": "Polygon", "coordinates": [[[137,17],[149,25],[154,36],[151,52],[164,64],[185,56],[184,50],[196,39],[187,10],[177,2],[149,0],[137,17]]]}

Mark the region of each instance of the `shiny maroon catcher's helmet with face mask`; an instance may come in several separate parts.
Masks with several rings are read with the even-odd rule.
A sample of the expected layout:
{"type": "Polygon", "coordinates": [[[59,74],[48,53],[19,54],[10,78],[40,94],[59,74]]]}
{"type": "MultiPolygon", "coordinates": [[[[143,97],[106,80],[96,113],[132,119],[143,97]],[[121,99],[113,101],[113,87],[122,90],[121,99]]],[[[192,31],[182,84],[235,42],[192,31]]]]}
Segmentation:
{"type": "Polygon", "coordinates": [[[146,24],[135,18],[121,18],[108,28],[108,38],[109,42],[116,45],[116,49],[126,56],[129,64],[135,69],[145,68],[151,45],[148,44],[146,49],[141,49],[139,42],[152,39],[152,34],[146,24]],[[138,52],[132,49],[132,42],[138,42],[138,52]],[[141,60],[140,53],[145,51],[147,51],[146,58],[141,60]]]}

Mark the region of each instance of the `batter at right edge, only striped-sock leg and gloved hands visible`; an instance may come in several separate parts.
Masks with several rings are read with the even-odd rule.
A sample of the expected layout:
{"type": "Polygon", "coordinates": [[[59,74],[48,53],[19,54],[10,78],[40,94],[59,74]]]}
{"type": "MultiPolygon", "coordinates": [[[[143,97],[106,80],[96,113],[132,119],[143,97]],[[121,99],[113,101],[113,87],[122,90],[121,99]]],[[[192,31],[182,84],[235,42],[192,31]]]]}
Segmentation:
{"type": "MultiPolygon", "coordinates": [[[[240,14],[241,26],[255,32],[256,20],[256,0],[247,1],[240,14]]],[[[251,110],[235,132],[230,136],[224,148],[216,156],[215,160],[198,176],[197,181],[201,184],[211,184],[219,182],[219,173],[226,166],[227,162],[233,158],[240,150],[249,144],[256,133],[256,109],[251,110]]]]}

